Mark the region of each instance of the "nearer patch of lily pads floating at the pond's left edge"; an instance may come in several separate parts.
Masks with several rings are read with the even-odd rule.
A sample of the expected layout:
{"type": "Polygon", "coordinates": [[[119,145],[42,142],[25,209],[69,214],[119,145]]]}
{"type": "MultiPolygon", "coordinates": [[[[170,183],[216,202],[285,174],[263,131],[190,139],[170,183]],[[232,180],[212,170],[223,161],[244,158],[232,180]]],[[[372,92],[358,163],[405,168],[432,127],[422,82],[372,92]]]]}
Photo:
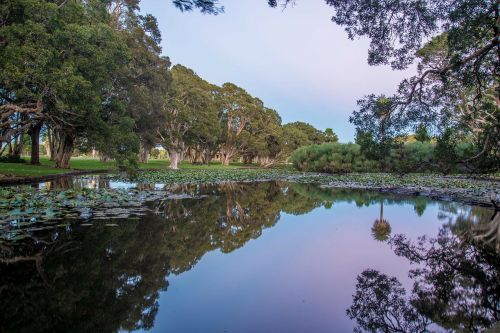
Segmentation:
{"type": "Polygon", "coordinates": [[[1,188],[0,239],[23,239],[28,237],[28,231],[66,227],[72,220],[108,220],[142,215],[146,210],[144,202],[165,196],[166,193],[159,190],[1,188]]]}

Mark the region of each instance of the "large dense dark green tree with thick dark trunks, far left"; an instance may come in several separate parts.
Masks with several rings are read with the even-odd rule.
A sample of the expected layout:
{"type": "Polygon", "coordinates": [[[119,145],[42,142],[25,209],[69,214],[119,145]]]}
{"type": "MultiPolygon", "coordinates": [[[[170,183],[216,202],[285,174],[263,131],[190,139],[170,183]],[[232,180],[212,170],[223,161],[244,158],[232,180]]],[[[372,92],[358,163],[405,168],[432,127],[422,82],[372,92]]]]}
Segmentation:
{"type": "Polygon", "coordinates": [[[43,121],[54,139],[56,166],[68,168],[80,140],[123,127],[104,110],[117,112],[106,97],[128,59],[126,44],[103,3],[26,0],[2,7],[2,118],[18,113],[15,125],[33,133],[35,145],[43,121]]]}

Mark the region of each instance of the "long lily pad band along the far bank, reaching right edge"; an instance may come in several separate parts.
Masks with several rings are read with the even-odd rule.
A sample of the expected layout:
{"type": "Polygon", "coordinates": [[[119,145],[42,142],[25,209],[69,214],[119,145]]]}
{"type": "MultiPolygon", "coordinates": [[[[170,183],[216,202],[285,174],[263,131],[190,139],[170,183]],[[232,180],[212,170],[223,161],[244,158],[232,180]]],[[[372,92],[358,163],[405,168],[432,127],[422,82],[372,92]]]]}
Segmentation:
{"type": "MultiPolygon", "coordinates": [[[[117,176],[114,179],[127,181],[127,178],[122,176],[117,176]]],[[[500,181],[498,179],[464,175],[407,174],[397,176],[388,173],[324,174],[298,172],[290,169],[220,169],[144,171],[136,178],[138,182],[153,184],[202,184],[266,180],[315,183],[336,188],[372,189],[481,205],[491,205],[489,200],[491,191],[500,195],[500,181]]]]}

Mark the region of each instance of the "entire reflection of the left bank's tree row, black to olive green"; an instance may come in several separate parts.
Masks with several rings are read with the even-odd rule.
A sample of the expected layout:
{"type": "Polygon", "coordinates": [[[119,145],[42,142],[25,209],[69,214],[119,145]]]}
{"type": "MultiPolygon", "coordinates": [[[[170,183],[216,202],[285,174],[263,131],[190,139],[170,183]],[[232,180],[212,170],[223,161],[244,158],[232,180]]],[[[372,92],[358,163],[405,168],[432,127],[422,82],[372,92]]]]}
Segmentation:
{"type": "Polygon", "coordinates": [[[157,202],[151,214],[117,226],[69,224],[1,243],[0,331],[150,329],[169,274],[259,237],[285,200],[277,183],[170,190],[192,198],[157,202]]]}

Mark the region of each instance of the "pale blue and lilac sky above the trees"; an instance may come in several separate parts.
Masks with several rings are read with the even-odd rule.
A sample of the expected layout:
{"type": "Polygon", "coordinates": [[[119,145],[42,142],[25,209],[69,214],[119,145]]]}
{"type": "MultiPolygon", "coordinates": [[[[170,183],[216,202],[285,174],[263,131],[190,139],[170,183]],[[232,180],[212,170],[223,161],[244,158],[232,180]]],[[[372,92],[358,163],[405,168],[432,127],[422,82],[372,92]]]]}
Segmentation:
{"type": "Polygon", "coordinates": [[[223,14],[181,13],[171,0],[142,0],[158,19],[163,54],[205,80],[232,82],[277,110],[283,123],[305,121],[354,140],[349,116],[367,94],[390,95],[414,72],[368,66],[366,39],[349,40],[321,0],[285,10],[266,0],[223,0],[223,14]]]}

